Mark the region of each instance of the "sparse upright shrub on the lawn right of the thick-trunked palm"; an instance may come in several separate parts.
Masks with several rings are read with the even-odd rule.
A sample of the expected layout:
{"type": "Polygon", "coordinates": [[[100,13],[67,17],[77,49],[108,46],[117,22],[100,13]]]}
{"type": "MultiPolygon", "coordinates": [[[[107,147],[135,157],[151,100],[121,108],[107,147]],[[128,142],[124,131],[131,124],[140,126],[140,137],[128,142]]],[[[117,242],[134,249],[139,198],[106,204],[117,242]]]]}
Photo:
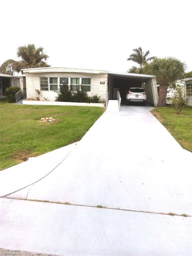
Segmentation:
{"type": "Polygon", "coordinates": [[[183,105],[185,105],[185,96],[183,88],[181,86],[176,86],[172,98],[172,106],[176,110],[177,114],[180,114],[183,105]]]}

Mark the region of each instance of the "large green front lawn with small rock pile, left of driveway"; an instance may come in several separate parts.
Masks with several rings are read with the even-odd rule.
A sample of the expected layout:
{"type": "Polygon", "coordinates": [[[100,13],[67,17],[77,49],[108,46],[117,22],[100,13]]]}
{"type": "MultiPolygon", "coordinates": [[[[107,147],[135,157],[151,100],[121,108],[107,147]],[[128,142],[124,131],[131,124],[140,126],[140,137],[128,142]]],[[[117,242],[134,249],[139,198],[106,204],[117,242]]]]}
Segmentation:
{"type": "Polygon", "coordinates": [[[0,102],[0,170],[80,140],[103,108],[0,102]],[[55,123],[42,123],[52,117],[55,123]]]}

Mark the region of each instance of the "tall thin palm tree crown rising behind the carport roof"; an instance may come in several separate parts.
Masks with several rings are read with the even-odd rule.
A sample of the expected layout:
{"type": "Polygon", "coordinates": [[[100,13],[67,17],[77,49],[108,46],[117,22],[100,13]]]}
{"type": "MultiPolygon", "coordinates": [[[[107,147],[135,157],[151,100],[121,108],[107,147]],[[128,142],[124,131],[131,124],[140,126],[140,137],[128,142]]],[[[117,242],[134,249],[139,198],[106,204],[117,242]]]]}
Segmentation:
{"type": "Polygon", "coordinates": [[[139,48],[133,49],[133,53],[129,56],[127,60],[132,60],[134,62],[137,62],[140,65],[140,68],[142,68],[142,66],[145,63],[155,58],[155,56],[147,58],[148,55],[149,55],[149,50],[144,53],[142,52],[142,48],[139,47],[139,48]]]}

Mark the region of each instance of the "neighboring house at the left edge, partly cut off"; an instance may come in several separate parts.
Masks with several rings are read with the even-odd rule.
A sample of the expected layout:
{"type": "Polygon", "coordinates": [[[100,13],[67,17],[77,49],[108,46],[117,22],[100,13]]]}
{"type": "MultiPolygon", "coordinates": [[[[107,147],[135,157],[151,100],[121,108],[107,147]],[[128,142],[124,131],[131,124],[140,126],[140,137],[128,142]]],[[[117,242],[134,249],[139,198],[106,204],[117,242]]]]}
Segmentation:
{"type": "Polygon", "coordinates": [[[20,78],[18,76],[11,76],[0,73],[0,97],[5,97],[5,90],[7,87],[20,87],[20,78]]]}

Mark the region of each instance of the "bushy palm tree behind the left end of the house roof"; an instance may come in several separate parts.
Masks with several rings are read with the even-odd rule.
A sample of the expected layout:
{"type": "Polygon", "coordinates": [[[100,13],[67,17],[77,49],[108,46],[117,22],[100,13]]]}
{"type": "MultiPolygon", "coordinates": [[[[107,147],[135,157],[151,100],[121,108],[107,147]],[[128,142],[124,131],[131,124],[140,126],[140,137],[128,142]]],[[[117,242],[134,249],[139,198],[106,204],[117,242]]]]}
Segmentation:
{"type": "Polygon", "coordinates": [[[18,73],[23,68],[50,67],[50,65],[45,62],[49,56],[43,53],[43,47],[36,48],[34,44],[19,46],[17,49],[17,57],[21,58],[21,61],[15,63],[15,70],[18,73]]]}

